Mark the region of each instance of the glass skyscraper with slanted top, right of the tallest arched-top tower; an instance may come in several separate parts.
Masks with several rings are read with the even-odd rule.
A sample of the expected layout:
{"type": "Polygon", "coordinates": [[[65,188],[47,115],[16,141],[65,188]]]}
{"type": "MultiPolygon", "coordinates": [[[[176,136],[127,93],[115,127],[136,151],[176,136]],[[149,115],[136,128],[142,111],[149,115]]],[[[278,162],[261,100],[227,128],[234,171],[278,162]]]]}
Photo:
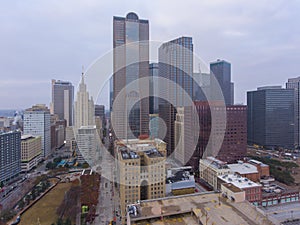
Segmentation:
{"type": "Polygon", "coordinates": [[[167,143],[169,156],[175,149],[174,121],[176,107],[186,106],[188,103],[187,96],[193,99],[192,38],[180,37],[162,44],[158,50],[158,57],[159,77],[166,78],[171,83],[168,87],[165,87],[165,85],[159,87],[160,96],[169,100],[160,100],[159,102],[159,116],[164,120],[167,129],[164,141],[167,143]]]}

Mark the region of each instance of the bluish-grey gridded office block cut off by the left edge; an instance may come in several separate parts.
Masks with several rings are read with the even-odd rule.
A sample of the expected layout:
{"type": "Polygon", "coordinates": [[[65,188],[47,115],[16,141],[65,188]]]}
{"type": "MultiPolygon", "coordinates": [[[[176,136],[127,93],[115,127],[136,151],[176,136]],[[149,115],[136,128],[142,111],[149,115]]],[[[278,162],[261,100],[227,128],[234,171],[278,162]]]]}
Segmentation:
{"type": "Polygon", "coordinates": [[[14,178],[21,172],[21,132],[0,133],[0,182],[14,178]]]}

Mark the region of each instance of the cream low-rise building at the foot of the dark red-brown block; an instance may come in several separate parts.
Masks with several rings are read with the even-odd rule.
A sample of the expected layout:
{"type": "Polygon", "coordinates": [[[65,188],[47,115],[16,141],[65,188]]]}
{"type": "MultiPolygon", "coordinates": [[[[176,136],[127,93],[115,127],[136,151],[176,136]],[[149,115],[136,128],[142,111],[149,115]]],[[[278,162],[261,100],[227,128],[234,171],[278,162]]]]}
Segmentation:
{"type": "Polygon", "coordinates": [[[200,159],[199,163],[200,178],[211,185],[214,190],[218,190],[218,176],[229,174],[230,169],[226,162],[214,157],[200,159]]]}

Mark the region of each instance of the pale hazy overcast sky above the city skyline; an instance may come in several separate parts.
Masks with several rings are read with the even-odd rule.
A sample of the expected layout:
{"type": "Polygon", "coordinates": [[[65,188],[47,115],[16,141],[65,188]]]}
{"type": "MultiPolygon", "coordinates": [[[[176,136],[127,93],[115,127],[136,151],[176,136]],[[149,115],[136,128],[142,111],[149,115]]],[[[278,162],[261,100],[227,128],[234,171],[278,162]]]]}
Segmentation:
{"type": "Polygon", "coordinates": [[[82,65],[112,49],[113,16],[130,11],[149,20],[151,40],[192,36],[205,62],[231,62],[236,103],[300,76],[300,1],[1,1],[0,109],[48,105],[52,78],[76,87],[82,65]]]}

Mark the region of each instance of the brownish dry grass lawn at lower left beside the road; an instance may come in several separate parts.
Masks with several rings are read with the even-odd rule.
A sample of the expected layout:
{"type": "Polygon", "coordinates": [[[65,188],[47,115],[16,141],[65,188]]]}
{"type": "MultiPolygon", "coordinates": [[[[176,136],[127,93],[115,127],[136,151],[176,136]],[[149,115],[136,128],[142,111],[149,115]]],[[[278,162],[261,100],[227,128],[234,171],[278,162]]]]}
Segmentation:
{"type": "Polygon", "coordinates": [[[71,183],[58,184],[21,216],[19,225],[37,224],[38,219],[41,225],[55,223],[58,218],[56,210],[71,186],[71,183]]]}

